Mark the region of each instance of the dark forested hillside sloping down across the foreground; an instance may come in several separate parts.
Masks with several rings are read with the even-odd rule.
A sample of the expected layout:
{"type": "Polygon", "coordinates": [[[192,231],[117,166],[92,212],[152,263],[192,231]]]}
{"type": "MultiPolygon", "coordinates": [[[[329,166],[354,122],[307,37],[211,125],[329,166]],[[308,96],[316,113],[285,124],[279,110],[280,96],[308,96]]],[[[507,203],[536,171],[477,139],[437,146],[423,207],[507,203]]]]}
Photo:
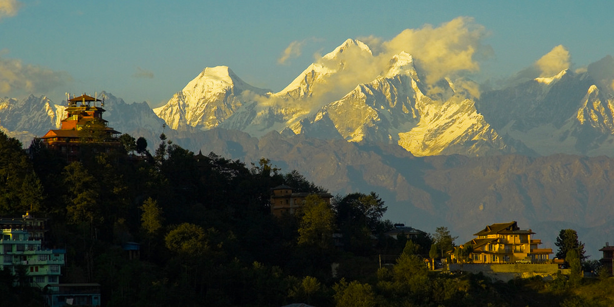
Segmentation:
{"type": "MultiPolygon", "coordinates": [[[[309,196],[300,214],[276,218],[271,188],[325,187],[266,158],[195,155],[163,134],[153,154],[146,139],[120,140],[123,150],[84,147],[67,163],[39,140],[23,150],[0,133],[1,216],[49,217],[50,244],[67,253],[61,282],[101,284],[104,306],[612,305],[605,274],[495,282],[429,271],[424,258],[454,238],[445,227],[413,241],[385,236],[394,226],[376,193],[337,195],[331,205],[309,196]],[[138,259],[126,242],[141,244],[138,259]]],[[[0,271],[0,305],[41,306],[37,289],[15,278],[0,271]]]]}

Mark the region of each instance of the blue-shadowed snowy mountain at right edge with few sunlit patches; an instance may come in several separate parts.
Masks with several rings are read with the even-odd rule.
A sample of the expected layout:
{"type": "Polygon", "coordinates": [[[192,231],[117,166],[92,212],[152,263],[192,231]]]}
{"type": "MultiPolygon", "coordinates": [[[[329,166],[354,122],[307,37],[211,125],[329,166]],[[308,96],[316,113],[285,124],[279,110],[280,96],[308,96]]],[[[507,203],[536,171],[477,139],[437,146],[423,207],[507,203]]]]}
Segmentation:
{"type": "Polygon", "coordinates": [[[565,70],[483,93],[478,110],[499,134],[539,155],[611,155],[613,104],[588,73],[565,70]]]}

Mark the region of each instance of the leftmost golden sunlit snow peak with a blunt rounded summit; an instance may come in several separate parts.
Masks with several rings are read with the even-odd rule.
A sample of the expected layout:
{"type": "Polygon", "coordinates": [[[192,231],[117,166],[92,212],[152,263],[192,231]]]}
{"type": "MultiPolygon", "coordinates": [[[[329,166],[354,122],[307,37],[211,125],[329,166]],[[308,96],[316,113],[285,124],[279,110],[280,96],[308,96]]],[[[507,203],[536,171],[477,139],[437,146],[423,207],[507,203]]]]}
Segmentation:
{"type": "Polygon", "coordinates": [[[184,125],[208,130],[218,126],[253,94],[268,90],[252,87],[227,66],[205,68],[164,106],[153,109],[173,129],[184,125]]]}

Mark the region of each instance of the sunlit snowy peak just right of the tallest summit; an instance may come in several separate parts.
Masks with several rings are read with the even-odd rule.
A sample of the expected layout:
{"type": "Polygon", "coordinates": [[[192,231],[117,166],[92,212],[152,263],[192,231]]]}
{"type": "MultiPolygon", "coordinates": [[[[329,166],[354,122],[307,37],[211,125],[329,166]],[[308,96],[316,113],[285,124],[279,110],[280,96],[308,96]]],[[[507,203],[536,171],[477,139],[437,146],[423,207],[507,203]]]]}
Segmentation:
{"type": "Polygon", "coordinates": [[[358,85],[293,130],[309,128],[313,134],[314,126],[325,122],[317,134],[334,138],[330,122],[346,141],[391,142],[414,155],[511,151],[453,84],[442,80],[427,94],[429,87],[419,82],[411,55],[402,52],[390,63],[377,79],[358,85]]]}

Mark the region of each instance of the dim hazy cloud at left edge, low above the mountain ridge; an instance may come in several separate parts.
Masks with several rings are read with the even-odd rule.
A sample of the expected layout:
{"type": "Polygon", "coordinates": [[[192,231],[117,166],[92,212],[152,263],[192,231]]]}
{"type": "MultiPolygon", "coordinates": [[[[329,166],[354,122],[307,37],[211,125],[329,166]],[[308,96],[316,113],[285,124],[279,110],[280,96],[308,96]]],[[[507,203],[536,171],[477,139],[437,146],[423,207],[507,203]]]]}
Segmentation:
{"type": "Polygon", "coordinates": [[[70,81],[68,72],[23,64],[21,60],[2,58],[0,54],[0,94],[20,96],[47,94],[70,81]]]}

